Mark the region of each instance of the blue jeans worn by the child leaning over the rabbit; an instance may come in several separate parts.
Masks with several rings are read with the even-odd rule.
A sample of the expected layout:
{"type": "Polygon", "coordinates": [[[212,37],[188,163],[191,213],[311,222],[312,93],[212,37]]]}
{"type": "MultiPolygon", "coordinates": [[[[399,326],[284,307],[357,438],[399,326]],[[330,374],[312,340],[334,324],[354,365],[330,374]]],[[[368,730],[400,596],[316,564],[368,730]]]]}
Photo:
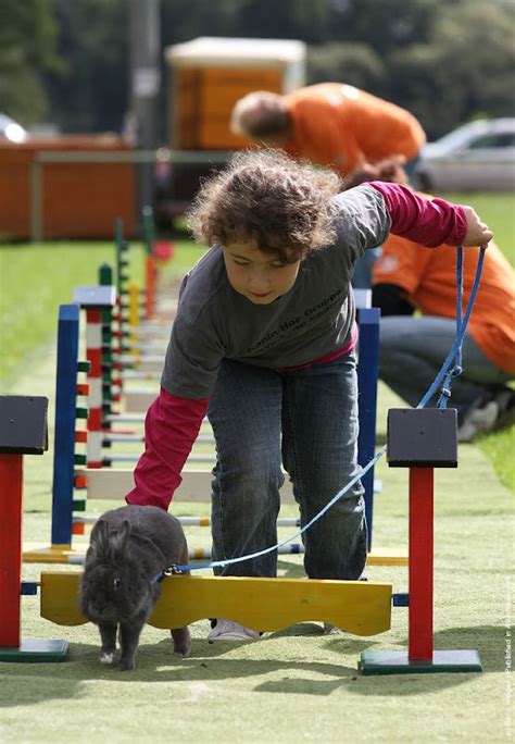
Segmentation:
{"type": "MultiPolygon", "coordinates": [[[[291,479],[302,525],[360,472],[352,354],[289,372],[225,360],[208,414],[217,450],[212,484],[214,560],[277,543],[281,463],[291,479]]],[[[303,534],[303,542],[307,576],[361,576],[366,523],[360,481],[303,534]]],[[[275,576],[277,551],[215,573],[275,576]]]]}

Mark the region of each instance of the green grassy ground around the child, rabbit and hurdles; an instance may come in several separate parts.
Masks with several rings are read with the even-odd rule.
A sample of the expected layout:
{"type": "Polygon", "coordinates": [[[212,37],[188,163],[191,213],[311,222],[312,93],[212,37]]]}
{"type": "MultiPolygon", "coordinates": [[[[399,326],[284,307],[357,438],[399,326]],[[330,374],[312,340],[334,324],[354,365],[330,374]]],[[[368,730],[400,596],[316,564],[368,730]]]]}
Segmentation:
{"type": "MultiPolygon", "coordinates": [[[[499,236],[510,240],[506,252],[513,261],[515,243],[510,235],[515,198],[486,195],[479,199],[482,207],[473,195],[456,198],[476,206],[503,249],[499,236]]],[[[201,252],[189,243],[178,245],[177,272],[201,252]]],[[[131,256],[138,277],[141,249],[135,245],[131,256]]],[[[25,458],[27,541],[48,541],[50,535],[58,305],[71,301],[74,286],[95,284],[98,264],[113,260],[110,244],[0,247],[1,393],[50,398],[50,450],[42,457],[25,458]]],[[[395,405],[399,399],[380,385],[379,441],[386,435],[386,411],[395,405]]],[[[477,649],[485,669],[481,674],[361,677],[356,671],[361,650],[405,649],[406,610],[402,608],[392,610],[390,631],[366,638],[341,632],[324,636],[313,622],[256,643],[210,645],[208,622],[201,621],[191,628],[193,648],[186,660],[173,657],[165,631],[147,628],[138,668],[124,674],[98,664],[95,627],[52,625],[39,617],[37,598],[24,597],[23,636],[67,640],[71,654],[60,665],[0,664],[0,741],[511,741],[513,433],[487,437],[479,446],[461,445],[459,469],[436,474],[435,645],[477,649]]],[[[388,469],[382,459],[376,476],[382,492],[376,496],[374,545],[405,546],[407,473],[388,469]]],[[[173,511],[199,513],[200,508],[177,504],[173,511]]],[[[293,513],[293,508],[284,512],[293,513]]],[[[188,531],[190,545],[209,544],[208,532],[188,531]]],[[[288,534],[281,532],[281,536],[288,534]]],[[[26,565],[23,578],[37,580],[43,568],[26,565]]],[[[303,574],[298,556],[281,558],[279,569],[284,576],[303,574]]],[[[369,567],[367,578],[392,582],[394,592],[407,588],[404,569],[369,567]]]]}

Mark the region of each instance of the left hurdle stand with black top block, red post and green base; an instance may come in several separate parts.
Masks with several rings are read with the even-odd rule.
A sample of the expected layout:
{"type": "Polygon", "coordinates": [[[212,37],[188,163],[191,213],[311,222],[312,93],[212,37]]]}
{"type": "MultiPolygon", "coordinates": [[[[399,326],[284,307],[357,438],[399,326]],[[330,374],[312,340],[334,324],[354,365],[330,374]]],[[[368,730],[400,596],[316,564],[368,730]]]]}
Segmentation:
{"type": "Polygon", "coordinates": [[[63,661],[65,641],[21,637],[23,456],[42,455],[48,398],[0,397],[0,661],[63,661]]]}

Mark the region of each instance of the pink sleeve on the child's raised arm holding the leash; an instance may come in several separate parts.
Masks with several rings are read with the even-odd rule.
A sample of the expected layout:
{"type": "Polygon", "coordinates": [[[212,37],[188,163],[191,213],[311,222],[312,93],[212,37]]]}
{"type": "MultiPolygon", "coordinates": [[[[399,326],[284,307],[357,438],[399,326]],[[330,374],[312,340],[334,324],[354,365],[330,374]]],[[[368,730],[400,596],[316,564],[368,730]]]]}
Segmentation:
{"type": "Polygon", "coordinates": [[[467,231],[465,210],[444,199],[427,199],[409,186],[382,181],[369,183],[381,193],[391,216],[390,233],[428,248],[444,243],[461,246],[467,231]]]}

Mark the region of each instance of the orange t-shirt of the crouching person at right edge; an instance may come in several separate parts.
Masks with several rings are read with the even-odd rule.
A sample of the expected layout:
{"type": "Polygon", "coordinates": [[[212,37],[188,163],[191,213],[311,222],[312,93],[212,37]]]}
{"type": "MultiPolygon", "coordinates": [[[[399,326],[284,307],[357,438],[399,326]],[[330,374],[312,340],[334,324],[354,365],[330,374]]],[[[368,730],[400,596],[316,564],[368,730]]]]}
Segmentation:
{"type": "MultiPolygon", "coordinates": [[[[463,249],[463,311],[476,274],[479,248],[463,249]]],[[[456,317],[456,249],[424,248],[390,235],[376,261],[373,284],[397,284],[424,315],[456,317]]],[[[490,243],[468,321],[468,331],[485,356],[515,374],[515,272],[490,243]]],[[[465,359],[466,363],[466,359],[465,359]]]]}

